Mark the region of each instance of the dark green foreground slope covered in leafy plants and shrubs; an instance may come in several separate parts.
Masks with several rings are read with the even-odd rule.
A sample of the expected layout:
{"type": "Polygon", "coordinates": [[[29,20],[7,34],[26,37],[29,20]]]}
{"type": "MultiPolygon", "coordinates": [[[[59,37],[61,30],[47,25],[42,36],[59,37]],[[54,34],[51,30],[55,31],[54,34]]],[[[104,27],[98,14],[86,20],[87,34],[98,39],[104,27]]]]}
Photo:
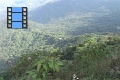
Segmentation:
{"type": "Polygon", "coordinates": [[[98,39],[95,34],[81,37],[85,39],[83,42],[61,51],[53,48],[23,54],[1,77],[5,80],[74,80],[76,75],[75,80],[119,80],[119,35],[98,39]]]}

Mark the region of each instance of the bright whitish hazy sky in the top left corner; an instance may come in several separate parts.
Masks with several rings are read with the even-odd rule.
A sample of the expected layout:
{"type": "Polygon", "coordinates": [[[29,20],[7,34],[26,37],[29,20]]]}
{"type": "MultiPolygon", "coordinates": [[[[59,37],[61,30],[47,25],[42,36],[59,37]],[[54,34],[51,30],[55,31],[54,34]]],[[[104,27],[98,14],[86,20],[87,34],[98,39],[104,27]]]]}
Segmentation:
{"type": "Polygon", "coordinates": [[[58,0],[0,0],[0,18],[6,14],[7,7],[28,7],[29,11],[58,0]]]}

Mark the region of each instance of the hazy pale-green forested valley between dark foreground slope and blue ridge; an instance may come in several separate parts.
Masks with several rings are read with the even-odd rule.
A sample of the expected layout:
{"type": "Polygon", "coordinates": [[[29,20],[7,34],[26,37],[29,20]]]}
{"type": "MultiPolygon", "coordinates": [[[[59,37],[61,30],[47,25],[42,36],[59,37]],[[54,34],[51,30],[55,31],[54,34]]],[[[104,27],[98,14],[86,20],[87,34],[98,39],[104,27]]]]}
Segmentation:
{"type": "MultiPolygon", "coordinates": [[[[81,38],[78,41],[77,36],[85,33],[119,33],[119,18],[117,16],[119,16],[118,13],[111,12],[74,13],[53,19],[48,24],[29,21],[28,29],[24,30],[7,29],[6,20],[1,20],[0,58],[7,60],[38,49],[64,49],[84,39],[81,38]]],[[[1,65],[3,64],[6,65],[5,61],[1,62],[1,65]]],[[[1,69],[4,68],[1,66],[1,69]]]]}

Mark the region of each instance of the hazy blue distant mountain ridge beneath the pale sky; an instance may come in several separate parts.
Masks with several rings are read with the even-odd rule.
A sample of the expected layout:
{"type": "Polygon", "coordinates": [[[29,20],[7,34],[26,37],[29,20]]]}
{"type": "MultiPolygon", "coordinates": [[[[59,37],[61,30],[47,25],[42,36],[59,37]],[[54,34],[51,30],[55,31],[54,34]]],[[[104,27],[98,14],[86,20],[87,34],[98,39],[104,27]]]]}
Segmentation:
{"type": "Polygon", "coordinates": [[[48,23],[51,19],[78,12],[104,12],[120,9],[119,0],[60,0],[29,12],[30,20],[48,23]]]}

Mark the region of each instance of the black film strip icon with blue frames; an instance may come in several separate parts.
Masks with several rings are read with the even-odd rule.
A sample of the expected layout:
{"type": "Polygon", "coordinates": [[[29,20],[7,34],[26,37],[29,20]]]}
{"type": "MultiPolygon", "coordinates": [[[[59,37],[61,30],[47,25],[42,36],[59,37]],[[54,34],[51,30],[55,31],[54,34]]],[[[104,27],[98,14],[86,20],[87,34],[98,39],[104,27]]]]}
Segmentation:
{"type": "Polygon", "coordinates": [[[27,28],[27,7],[7,7],[7,28],[27,28]]]}

